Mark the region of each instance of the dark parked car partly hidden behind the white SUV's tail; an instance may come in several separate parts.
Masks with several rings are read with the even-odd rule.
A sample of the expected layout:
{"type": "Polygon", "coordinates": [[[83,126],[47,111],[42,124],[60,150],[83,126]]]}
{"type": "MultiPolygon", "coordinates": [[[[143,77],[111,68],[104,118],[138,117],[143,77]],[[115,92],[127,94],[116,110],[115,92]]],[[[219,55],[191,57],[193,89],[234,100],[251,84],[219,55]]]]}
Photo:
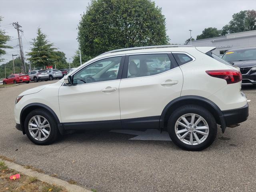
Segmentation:
{"type": "Polygon", "coordinates": [[[228,50],[222,59],[240,68],[242,85],[256,85],[256,47],[228,50]]]}

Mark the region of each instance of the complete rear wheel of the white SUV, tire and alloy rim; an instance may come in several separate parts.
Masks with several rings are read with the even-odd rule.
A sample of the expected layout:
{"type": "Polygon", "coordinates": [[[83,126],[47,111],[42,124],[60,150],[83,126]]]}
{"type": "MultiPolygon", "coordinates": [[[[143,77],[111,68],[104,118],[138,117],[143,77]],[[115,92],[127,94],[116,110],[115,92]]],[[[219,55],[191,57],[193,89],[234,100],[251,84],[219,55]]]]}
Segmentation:
{"type": "Polygon", "coordinates": [[[180,148],[189,151],[200,151],[214,142],[217,135],[217,124],[214,116],[205,108],[196,105],[182,106],[170,116],[168,133],[174,144],[180,148]],[[182,119],[182,116],[183,119],[186,118],[187,123],[182,119]],[[201,117],[196,126],[190,124],[192,116],[194,116],[194,123],[197,123],[197,120],[201,117]],[[178,121],[183,123],[183,126],[178,121]]]}

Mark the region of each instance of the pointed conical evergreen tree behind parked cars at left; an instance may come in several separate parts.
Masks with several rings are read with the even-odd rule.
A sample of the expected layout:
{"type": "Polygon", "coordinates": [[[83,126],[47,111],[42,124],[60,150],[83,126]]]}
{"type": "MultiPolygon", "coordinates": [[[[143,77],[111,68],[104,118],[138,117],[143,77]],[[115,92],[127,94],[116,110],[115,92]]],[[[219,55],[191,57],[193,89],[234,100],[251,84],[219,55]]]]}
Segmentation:
{"type": "Polygon", "coordinates": [[[53,43],[49,43],[46,37],[46,34],[42,33],[41,28],[38,28],[36,38],[32,39],[33,42],[30,42],[32,48],[30,49],[31,52],[28,52],[27,55],[30,56],[28,60],[34,66],[51,66],[58,59],[58,56],[54,54],[56,48],[53,48],[53,43]]]}

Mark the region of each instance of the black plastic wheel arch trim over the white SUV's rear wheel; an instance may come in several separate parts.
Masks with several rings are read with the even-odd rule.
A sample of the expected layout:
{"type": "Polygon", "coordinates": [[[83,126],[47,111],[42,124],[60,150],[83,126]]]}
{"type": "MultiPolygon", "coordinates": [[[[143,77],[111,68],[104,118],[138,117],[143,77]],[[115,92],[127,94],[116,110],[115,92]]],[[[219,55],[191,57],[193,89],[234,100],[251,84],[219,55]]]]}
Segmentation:
{"type": "MultiPolygon", "coordinates": [[[[214,110],[215,113],[215,118],[216,115],[218,115],[218,119],[216,119],[216,121],[218,121],[218,124],[220,124],[221,129],[222,129],[222,133],[225,132],[226,129],[226,121],[225,121],[225,117],[223,115],[222,110],[220,110],[220,108],[211,100],[201,97],[201,96],[194,96],[194,95],[186,95],[186,96],[180,96],[178,98],[175,98],[174,100],[170,101],[164,108],[164,110],[162,111],[162,114],[160,116],[160,121],[159,121],[159,128],[162,131],[166,122],[166,114],[168,113],[169,110],[171,110],[172,106],[179,104],[179,103],[186,103],[188,102],[188,104],[193,104],[191,103],[191,101],[194,101],[195,104],[196,102],[204,102],[206,105],[210,106],[212,108],[212,110],[214,110]]],[[[175,108],[176,109],[176,108],[175,108]]],[[[174,110],[175,110],[174,109],[174,110]]]]}

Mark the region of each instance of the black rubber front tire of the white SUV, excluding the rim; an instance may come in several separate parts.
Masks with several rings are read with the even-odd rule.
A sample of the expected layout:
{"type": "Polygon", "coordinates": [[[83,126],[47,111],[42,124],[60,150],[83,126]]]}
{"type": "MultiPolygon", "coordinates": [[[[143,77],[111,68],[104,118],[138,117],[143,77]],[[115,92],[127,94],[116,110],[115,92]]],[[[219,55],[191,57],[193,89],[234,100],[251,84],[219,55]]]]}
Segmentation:
{"type": "Polygon", "coordinates": [[[48,145],[48,144],[51,144],[52,142],[54,142],[56,140],[56,138],[58,137],[59,135],[59,132],[58,132],[58,126],[54,120],[54,118],[52,118],[52,116],[50,115],[50,113],[47,111],[47,110],[42,110],[42,109],[36,109],[36,110],[33,110],[32,112],[30,112],[26,118],[25,118],[25,121],[24,121],[24,130],[26,132],[26,135],[28,136],[28,138],[34,143],[34,144],[38,144],[38,145],[48,145]],[[50,130],[50,136],[44,140],[44,141],[38,141],[38,140],[35,140],[31,135],[30,135],[30,132],[28,130],[28,122],[29,120],[33,117],[33,116],[36,116],[36,115],[40,115],[40,116],[43,116],[44,118],[46,118],[50,124],[50,127],[51,127],[51,130],[50,130]]]}

